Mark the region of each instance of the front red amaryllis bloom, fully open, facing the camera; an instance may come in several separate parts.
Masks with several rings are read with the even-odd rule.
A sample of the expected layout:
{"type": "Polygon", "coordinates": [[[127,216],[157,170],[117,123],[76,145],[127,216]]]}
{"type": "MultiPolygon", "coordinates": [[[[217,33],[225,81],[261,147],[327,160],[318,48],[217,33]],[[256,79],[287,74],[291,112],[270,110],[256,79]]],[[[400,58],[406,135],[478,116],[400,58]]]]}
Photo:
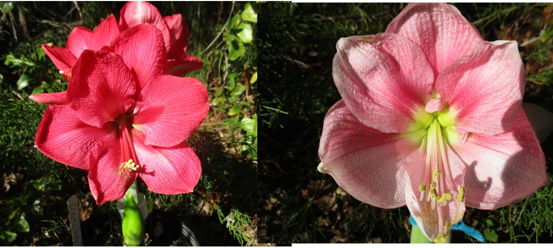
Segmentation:
{"type": "MultiPolygon", "coordinates": [[[[127,56],[144,55],[134,51],[127,56]]],[[[201,165],[185,139],[206,118],[207,89],[194,78],[164,75],[166,62],[137,71],[125,60],[103,49],[82,52],[72,68],[68,103],[46,108],[35,147],[90,170],[98,204],[122,198],[137,176],[156,193],[191,192],[201,165]]]]}

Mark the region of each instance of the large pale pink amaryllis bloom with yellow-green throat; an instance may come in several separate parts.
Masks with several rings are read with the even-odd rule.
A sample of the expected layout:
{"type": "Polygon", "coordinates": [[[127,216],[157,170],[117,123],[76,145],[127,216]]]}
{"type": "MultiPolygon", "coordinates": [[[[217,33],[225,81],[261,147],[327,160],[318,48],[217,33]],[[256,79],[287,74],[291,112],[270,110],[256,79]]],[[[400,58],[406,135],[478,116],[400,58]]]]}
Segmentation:
{"type": "Polygon", "coordinates": [[[409,4],[385,33],[342,38],[319,170],[380,208],[407,205],[443,242],[465,206],[495,209],[550,184],[521,101],[515,41],[483,41],[448,4],[409,4]]]}

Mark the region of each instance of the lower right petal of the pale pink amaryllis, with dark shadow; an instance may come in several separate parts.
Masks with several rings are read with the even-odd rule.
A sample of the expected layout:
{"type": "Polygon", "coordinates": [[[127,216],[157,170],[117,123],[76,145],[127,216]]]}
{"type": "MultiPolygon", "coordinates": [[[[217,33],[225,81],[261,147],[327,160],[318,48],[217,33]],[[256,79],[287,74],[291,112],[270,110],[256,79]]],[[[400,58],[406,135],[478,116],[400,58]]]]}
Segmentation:
{"type": "Polygon", "coordinates": [[[466,143],[453,146],[453,150],[467,165],[468,207],[504,207],[551,183],[544,173],[544,152],[522,109],[507,133],[469,134],[466,143]]]}

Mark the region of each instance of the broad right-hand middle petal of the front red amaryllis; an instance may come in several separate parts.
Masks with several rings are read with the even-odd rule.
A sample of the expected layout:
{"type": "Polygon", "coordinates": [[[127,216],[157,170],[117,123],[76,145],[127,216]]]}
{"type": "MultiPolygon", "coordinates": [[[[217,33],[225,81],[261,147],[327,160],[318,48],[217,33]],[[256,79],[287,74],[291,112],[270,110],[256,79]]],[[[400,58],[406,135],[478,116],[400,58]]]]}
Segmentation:
{"type": "Polygon", "coordinates": [[[144,133],[146,145],[182,143],[199,128],[210,108],[207,89],[195,78],[160,76],[140,94],[133,126],[144,133]]]}

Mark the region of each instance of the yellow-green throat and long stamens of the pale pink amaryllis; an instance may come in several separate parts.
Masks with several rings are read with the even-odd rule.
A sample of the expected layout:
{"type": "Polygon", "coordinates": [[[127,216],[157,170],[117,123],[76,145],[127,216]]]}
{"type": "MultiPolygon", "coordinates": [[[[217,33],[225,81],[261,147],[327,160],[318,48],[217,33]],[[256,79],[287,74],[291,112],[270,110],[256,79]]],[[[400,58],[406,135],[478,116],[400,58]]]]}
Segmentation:
{"type": "Polygon", "coordinates": [[[401,136],[408,138],[413,143],[420,145],[421,151],[426,153],[424,165],[415,165],[416,170],[424,171],[422,178],[411,178],[419,181],[418,197],[420,215],[428,225],[437,225],[439,235],[435,242],[442,242],[449,233],[451,225],[457,223],[462,217],[447,220],[445,210],[448,203],[460,204],[465,199],[465,187],[453,186],[448,151],[451,146],[462,142],[455,130],[457,111],[453,108],[441,108],[434,113],[428,113],[424,108],[413,113],[414,123],[409,126],[409,131],[401,136]]]}

